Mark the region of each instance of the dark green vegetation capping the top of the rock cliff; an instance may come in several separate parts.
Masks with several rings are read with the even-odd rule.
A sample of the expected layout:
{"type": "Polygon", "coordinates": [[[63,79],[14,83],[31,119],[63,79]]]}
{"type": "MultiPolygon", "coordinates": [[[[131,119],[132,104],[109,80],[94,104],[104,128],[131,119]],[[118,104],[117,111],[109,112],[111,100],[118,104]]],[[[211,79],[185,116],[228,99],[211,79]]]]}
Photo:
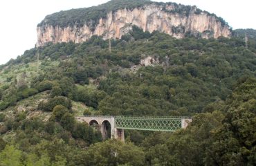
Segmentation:
{"type": "MultiPolygon", "coordinates": [[[[178,5],[177,3],[172,2],[163,3],[150,0],[111,0],[99,6],[55,12],[52,15],[47,15],[45,19],[37,26],[51,25],[60,27],[82,27],[84,26],[84,24],[86,24],[91,30],[94,30],[100,18],[106,18],[108,12],[116,12],[117,10],[124,8],[133,10],[134,8],[143,8],[143,6],[153,3],[158,6],[162,6],[162,10],[164,10],[165,12],[175,12],[185,15],[187,17],[190,12],[194,12],[195,14],[201,14],[201,12],[206,12],[196,8],[196,6],[184,6],[181,4],[178,5]],[[172,5],[175,8],[174,10],[167,10],[165,8],[165,5],[172,5]]],[[[221,17],[217,17],[216,15],[210,14],[209,12],[206,13],[208,15],[216,17],[217,20],[221,22],[222,26],[227,24],[226,21],[224,21],[221,17]]]]}

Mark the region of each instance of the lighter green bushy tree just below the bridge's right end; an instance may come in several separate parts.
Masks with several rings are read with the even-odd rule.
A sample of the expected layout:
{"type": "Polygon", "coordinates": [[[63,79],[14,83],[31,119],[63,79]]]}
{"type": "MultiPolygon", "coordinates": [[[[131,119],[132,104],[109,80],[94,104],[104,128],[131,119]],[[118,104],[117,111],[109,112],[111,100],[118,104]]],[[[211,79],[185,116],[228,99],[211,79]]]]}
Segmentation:
{"type": "Polygon", "coordinates": [[[220,111],[200,113],[193,117],[187,129],[167,133],[155,133],[143,141],[148,165],[203,165],[212,145],[212,129],[221,126],[220,111]]]}

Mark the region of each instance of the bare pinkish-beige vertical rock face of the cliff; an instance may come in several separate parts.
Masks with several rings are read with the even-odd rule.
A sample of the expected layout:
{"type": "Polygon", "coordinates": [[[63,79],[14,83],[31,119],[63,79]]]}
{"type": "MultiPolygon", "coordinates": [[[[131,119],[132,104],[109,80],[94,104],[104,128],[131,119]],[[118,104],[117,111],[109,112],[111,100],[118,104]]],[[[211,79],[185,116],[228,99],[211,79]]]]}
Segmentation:
{"type": "Polygon", "coordinates": [[[159,30],[176,38],[185,37],[186,34],[203,38],[230,37],[230,27],[221,24],[215,15],[209,15],[208,12],[196,13],[195,6],[188,13],[175,12],[175,8],[167,4],[150,4],[133,10],[125,8],[108,12],[107,17],[100,18],[93,30],[87,24],[61,27],[46,22],[37,26],[37,46],[43,46],[47,42],[80,43],[92,35],[102,35],[103,39],[120,39],[122,35],[129,33],[132,26],[138,26],[149,33],[159,30]]]}

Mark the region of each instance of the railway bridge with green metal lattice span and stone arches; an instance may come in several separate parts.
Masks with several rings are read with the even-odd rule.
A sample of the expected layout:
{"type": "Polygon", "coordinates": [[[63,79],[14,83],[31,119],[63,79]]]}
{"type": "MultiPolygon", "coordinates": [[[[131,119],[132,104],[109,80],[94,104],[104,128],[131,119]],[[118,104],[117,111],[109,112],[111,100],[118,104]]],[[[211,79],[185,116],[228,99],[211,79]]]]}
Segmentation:
{"type": "Polygon", "coordinates": [[[190,117],[172,116],[78,116],[76,119],[98,129],[103,140],[110,137],[122,142],[125,142],[124,129],[176,131],[186,128],[192,121],[190,117]]]}

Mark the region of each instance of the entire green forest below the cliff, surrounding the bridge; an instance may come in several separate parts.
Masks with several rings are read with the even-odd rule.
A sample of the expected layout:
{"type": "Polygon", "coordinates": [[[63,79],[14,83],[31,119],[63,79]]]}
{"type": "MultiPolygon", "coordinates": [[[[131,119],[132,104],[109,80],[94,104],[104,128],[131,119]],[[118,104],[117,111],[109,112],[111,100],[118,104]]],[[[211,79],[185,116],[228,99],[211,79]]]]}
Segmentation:
{"type": "Polygon", "coordinates": [[[0,66],[0,165],[255,165],[256,45],[175,39],[47,44],[0,66]],[[39,63],[37,64],[37,55],[39,63]],[[152,57],[149,66],[140,60],[152,57]],[[193,116],[175,133],[102,142],[81,115],[193,116]]]}

